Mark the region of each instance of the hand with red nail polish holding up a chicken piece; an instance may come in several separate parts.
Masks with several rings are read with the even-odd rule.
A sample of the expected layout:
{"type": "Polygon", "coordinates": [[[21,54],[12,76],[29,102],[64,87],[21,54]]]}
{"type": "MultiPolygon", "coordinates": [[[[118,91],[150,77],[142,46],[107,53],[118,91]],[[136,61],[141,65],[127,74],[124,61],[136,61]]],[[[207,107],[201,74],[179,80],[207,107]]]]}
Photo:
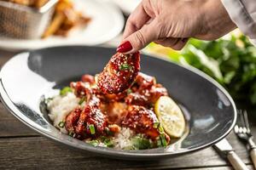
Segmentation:
{"type": "Polygon", "coordinates": [[[179,50],[189,37],[213,40],[235,28],[220,0],[143,0],[117,51],[132,54],[149,42],[179,50]]]}

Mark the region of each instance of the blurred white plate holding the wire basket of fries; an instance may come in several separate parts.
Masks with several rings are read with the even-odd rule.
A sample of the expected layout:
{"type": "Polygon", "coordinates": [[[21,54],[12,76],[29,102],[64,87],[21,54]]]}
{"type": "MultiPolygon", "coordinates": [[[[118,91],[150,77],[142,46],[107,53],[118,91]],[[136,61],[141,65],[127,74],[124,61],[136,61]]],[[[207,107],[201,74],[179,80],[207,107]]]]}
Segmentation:
{"type": "Polygon", "coordinates": [[[74,0],[74,4],[91,17],[88,26],[73,29],[68,37],[52,36],[36,40],[0,37],[0,48],[21,50],[61,45],[97,45],[118,36],[125,25],[122,12],[108,0],[74,0]]]}

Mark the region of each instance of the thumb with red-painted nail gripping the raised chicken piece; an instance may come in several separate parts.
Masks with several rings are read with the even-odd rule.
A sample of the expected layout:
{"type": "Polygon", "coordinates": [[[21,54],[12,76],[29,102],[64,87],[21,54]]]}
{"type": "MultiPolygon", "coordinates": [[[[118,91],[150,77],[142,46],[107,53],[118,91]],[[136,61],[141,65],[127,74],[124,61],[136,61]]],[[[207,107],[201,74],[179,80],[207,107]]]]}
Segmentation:
{"type": "Polygon", "coordinates": [[[147,46],[149,42],[159,39],[160,28],[157,28],[157,26],[157,20],[152,20],[148,25],[144,25],[140,30],[125,37],[117,51],[124,54],[133,54],[147,46]]]}

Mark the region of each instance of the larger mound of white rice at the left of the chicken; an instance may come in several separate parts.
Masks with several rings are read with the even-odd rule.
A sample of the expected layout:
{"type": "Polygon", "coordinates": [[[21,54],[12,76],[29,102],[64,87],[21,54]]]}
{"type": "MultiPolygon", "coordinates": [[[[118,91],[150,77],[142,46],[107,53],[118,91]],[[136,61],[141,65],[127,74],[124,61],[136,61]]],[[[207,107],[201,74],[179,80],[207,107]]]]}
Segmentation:
{"type": "MultiPolygon", "coordinates": [[[[49,100],[47,109],[49,110],[49,118],[58,127],[60,122],[65,122],[66,116],[79,105],[79,98],[73,93],[69,92],[65,96],[55,96],[54,99],[49,100]]],[[[60,127],[58,127],[60,128],[60,127]]],[[[65,127],[60,128],[62,133],[67,133],[65,127]]]]}

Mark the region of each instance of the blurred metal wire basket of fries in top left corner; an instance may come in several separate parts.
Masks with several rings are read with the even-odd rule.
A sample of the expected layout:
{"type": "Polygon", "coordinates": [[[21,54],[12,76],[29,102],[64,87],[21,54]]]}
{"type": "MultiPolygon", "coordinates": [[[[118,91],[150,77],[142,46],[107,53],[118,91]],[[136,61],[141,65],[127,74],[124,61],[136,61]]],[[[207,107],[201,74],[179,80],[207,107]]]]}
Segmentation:
{"type": "Polygon", "coordinates": [[[19,39],[41,37],[58,0],[0,0],[0,36],[19,39]]]}

